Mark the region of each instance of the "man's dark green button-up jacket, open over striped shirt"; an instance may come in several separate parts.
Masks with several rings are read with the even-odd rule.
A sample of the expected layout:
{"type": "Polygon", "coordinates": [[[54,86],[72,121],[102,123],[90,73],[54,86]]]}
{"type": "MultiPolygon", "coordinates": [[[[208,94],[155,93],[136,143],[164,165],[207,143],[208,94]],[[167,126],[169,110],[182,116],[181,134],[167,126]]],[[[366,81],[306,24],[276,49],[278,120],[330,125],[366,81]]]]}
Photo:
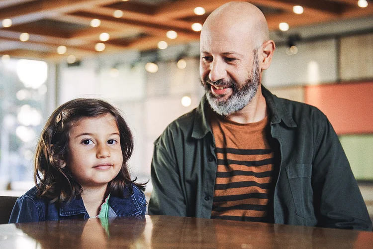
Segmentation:
{"type": "MultiPolygon", "coordinates": [[[[271,134],[280,147],[275,223],[372,231],[350,164],[326,116],[264,87],[262,93],[271,134]]],[[[203,97],[155,141],[149,214],[210,218],[217,159],[207,108],[203,97]]]]}

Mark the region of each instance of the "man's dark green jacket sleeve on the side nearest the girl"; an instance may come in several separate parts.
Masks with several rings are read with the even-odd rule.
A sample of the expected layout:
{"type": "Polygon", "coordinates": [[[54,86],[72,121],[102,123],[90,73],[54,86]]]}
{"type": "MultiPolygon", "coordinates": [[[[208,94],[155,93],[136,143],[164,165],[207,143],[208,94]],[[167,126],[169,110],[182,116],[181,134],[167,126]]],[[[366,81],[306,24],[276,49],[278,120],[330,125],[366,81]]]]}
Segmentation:
{"type": "Polygon", "coordinates": [[[149,214],[187,216],[182,176],[174,159],[173,142],[167,139],[166,132],[162,136],[154,144],[151,165],[153,192],[149,201],[149,214]],[[165,140],[168,142],[165,143],[165,140]]]}

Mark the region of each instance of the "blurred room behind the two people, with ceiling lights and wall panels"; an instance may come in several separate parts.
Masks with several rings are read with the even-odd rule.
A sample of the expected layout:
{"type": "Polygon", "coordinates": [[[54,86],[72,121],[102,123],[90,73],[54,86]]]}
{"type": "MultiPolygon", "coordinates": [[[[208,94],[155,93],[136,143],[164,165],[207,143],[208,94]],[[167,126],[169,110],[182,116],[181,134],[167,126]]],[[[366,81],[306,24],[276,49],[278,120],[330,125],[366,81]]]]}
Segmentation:
{"type": "MultiPolygon", "coordinates": [[[[225,2],[0,1],[0,195],[34,185],[41,130],[78,97],[104,98],[123,112],[135,137],[132,176],[149,180],[154,140],[203,95],[199,31],[225,2]]],[[[277,45],[263,85],[327,115],[373,216],[373,1],[249,2],[277,45]]]]}

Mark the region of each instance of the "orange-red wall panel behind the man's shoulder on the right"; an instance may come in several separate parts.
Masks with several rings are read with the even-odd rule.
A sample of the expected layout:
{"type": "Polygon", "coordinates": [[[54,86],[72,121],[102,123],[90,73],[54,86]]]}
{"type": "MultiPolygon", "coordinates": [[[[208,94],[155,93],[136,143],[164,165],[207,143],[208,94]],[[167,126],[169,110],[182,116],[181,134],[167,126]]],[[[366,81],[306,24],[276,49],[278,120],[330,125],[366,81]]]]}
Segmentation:
{"type": "Polygon", "coordinates": [[[373,82],[306,86],[304,95],[337,134],[373,133],[373,82]]]}

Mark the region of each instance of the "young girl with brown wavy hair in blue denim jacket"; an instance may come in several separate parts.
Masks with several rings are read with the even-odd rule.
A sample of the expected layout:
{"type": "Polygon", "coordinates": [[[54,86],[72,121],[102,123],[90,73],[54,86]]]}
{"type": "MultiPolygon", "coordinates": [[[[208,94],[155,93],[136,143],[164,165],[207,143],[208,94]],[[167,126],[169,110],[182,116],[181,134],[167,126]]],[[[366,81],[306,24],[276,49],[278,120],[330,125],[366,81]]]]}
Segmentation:
{"type": "Polygon", "coordinates": [[[35,155],[36,186],[18,198],[9,223],[145,215],[144,185],[131,181],[131,131],[98,99],[53,112],[35,155]]]}

